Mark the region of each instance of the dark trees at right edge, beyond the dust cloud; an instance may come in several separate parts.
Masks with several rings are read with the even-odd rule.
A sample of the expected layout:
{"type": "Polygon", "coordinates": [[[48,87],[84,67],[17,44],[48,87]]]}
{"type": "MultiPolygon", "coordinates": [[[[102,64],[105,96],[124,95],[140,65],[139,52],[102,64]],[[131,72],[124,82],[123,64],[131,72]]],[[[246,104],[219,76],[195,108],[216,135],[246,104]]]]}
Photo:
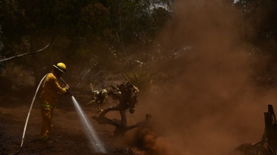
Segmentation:
{"type": "Polygon", "coordinates": [[[243,29],[241,40],[251,44],[256,53],[268,57],[264,67],[255,66],[257,84],[263,87],[277,86],[277,1],[276,0],[235,0],[234,5],[241,11],[243,29]]]}

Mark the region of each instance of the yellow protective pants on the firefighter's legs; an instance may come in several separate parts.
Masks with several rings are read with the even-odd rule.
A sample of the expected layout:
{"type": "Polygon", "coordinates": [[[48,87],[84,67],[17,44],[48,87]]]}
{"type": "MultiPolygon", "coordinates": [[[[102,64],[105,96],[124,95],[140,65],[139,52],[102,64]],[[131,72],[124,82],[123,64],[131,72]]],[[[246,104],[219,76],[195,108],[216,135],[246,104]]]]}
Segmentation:
{"type": "Polygon", "coordinates": [[[42,111],[42,130],[41,130],[41,139],[48,140],[51,137],[52,133],[52,118],[53,118],[53,109],[41,107],[42,111]]]}

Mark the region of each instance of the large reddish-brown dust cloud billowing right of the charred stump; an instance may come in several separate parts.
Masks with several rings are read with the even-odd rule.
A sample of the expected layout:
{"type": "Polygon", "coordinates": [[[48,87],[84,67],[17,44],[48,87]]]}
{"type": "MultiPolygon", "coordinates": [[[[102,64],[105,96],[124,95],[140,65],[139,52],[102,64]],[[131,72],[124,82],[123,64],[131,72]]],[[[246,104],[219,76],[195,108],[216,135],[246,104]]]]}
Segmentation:
{"type": "Polygon", "coordinates": [[[257,87],[254,66],[266,59],[245,46],[241,13],[226,1],[176,1],[159,41],[167,49],[193,46],[195,55],[184,58],[172,87],[139,98],[137,115],[151,113],[158,127],[139,131],[155,154],[138,154],[227,155],[261,140],[263,112],[269,103],[277,107],[276,91],[257,87]]]}

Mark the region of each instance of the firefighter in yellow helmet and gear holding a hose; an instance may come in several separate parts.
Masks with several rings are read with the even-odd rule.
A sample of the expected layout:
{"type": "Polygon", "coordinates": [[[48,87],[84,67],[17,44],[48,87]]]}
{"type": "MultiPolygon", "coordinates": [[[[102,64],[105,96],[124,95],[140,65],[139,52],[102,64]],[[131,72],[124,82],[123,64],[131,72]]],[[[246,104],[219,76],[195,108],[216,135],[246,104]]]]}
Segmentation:
{"type": "Polygon", "coordinates": [[[57,105],[58,95],[69,92],[69,85],[61,87],[57,80],[66,72],[65,64],[60,62],[53,66],[54,70],[47,75],[40,95],[42,113],[41,140],[44,142],[49,141],[51,137],[53,109],[57,105]]]}

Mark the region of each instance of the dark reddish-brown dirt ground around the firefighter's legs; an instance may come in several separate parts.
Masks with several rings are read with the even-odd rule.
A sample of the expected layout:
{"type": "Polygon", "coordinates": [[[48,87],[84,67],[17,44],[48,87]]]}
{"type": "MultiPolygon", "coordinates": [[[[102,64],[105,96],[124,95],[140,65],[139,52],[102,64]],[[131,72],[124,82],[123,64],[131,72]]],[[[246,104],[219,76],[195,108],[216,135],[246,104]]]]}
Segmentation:
{"type": "MultiPolygon", "coordinates": [[[[82,105],[83,110],[86,112],[108,153],[101,154],[93,151],[70,97],[65,96],[61,98],[61,103],[54,110],[53,142],[51,143],[38,141],[41,129],[41,111],[38,99],[36,100],[27,126],[23,150],[19,155],[115,155],[114,151],[118,148],[128,147],[121,137],[113,135],[113,126],[99,125],[92,120],[91,117],[96,112],[96,106],[86,106],[86,101],[90,98],[89,95],[77,95],[75,97],[82,105]]],[[[20,148],[23,128],[31,101],[31,98],[0,98],[1,155],[14,153],[20,148]]],[[[106,103],[103,108],[113,104],[116,104],[116,102],[106,103]]],[[[119,114],[112,112],[107,117],[119,118],[119,114]]],[[[134,122],[134,120],[128,120],[128,122],[132,121],[134,122]]]]}

